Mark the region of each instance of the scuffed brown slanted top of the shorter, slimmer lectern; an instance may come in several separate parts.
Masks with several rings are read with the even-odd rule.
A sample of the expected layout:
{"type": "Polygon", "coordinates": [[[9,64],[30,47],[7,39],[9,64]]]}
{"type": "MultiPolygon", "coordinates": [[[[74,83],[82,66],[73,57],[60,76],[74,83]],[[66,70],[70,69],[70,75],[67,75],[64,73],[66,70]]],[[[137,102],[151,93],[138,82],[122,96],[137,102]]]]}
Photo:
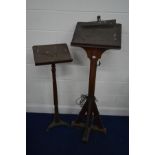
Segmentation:
{"type": "Polygon", "coordinates": [[[36,45],[32,47],[35,65],[71,62],[67,44],[36,45]]]}

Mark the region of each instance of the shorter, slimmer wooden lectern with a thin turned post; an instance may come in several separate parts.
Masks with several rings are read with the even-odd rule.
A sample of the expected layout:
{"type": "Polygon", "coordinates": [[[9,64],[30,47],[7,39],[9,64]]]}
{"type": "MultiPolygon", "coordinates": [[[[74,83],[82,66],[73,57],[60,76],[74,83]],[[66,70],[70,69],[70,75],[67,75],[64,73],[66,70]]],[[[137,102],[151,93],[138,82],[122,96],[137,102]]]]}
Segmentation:
{"type": "Polygon", "coordinates": [[[49,65],[51,64],[51,71],[53,77],[53,96],[54,96],[54,119],[49,124],[47,131],[50,128],[65,125],[66,122],[60,119],[58,111],[58,95],[56,82],[56,63],[65,63],[73,61],[67,44],[53,44],[53,45],[37,45],[33,46],[33,54],[35,65],[49,65]]]}

